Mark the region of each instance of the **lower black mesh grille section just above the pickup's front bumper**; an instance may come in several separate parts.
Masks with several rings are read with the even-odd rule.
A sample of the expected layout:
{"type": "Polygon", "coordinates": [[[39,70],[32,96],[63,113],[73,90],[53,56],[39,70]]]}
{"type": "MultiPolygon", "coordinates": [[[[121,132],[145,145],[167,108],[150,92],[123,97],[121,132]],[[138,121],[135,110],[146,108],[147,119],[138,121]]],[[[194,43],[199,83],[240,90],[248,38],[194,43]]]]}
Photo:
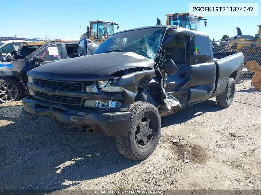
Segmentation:
{"type": "Polygon", "coordinates": [[[44,100],[50,100],[59,103],[67,103],[67,104],[81,104],[81,98],[79,97],[69,97],[62,95],[48,95],[47,93],[43,93],[40,91],[35,91],[36,97],[42,98],[44,100]]]}

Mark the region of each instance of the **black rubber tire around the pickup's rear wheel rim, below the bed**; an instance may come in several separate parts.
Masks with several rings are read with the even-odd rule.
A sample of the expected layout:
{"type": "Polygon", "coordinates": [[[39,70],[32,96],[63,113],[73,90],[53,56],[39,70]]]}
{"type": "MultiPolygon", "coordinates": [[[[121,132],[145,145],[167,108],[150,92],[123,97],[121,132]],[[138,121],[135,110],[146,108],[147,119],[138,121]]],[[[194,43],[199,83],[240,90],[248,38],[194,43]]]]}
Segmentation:
{"type": "Polygon", "coordinates": [[[236,89],[235,80],[233,78],[229,78],[224,93],[222,95],[217,96],[217,105],[223,108],[228,108],[232,104],[232,101],[234,99],[235,89],[236,89]],[[231,88],[232,96],[231,98],[228,99],[230,94],[229,93],[230,88],[231,88]]]}

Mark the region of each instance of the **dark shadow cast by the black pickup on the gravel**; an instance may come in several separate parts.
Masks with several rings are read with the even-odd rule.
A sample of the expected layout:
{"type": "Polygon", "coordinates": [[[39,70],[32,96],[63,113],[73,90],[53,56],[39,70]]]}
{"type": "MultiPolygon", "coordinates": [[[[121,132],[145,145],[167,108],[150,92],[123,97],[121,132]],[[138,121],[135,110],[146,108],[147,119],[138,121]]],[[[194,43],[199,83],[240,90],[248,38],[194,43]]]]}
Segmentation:
{"type": "MultiPolygon", "coordinates": [[[[197,112],[222,109],[215,103],[207,100],[165,116],[162,127],[190,120],[200,115],[195,115],[197,112]]],[[[2,113],[15,109],[1,108],[2,113]]],[[[79,181],[95,178],[109,183],[114,173],[140,163],[123,157],[114,138],[103,132],[77,130],[69,134],[53,119],[31,120],[31,117],[24,110],[17,117],[1,117],[12,121],[0,127],[2,189],[66,189],[78,185],[79,181]]],[[[90,182],[90,187],[96,183],[97,180],[90,182]]]]}

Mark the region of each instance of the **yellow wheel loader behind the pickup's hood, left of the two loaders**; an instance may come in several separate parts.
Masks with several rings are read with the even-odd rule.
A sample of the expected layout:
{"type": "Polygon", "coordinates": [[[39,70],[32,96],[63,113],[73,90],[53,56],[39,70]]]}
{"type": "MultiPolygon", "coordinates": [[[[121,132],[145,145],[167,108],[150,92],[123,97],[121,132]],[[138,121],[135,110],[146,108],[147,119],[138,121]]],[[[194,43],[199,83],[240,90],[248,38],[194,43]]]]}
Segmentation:
{"type": "Polygon", "coordinates": [[[115,22],[107,22],[103,20],[89,21],[90,28],[87,26],[87,32],[84,33],[80,39],[87,37],[95,42],[103,43],[110,35],[114,33],[114,25],[119,29],[119,25],[115,22]]]}

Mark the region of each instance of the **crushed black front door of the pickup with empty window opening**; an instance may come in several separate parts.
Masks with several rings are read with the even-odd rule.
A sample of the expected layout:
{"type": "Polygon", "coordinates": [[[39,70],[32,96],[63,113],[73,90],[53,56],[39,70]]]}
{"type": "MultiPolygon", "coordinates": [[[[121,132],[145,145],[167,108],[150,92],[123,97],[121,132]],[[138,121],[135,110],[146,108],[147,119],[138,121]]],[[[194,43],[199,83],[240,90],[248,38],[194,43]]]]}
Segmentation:
{"type": "Polygon", "coordinates": [[[184,106],[189,97],[191,82],[191,66],[188,64],[192,49],[192,36],[176,35],[165,48],[164,59],[172,59],[178,67],[178,72],[168,75],[165,90],[184,106]]]}

